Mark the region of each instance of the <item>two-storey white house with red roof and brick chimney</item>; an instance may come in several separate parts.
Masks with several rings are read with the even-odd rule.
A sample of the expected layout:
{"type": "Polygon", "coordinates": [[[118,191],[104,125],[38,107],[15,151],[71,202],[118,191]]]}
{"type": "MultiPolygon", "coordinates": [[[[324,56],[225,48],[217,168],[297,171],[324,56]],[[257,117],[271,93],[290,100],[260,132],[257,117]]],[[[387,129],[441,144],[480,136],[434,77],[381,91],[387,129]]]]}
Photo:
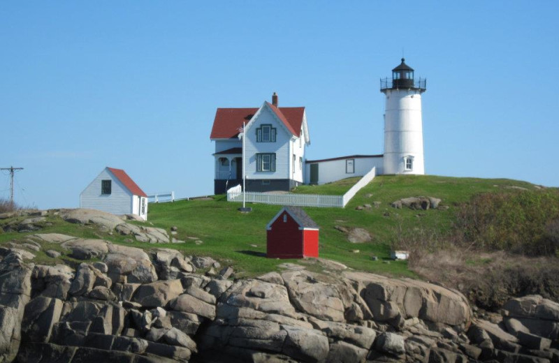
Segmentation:
{"type": "Polygon", "coordinates": [[[260,108],[218,108],[210,140],[215,141],[216,194],[242,184],[245,125],[247,191],[289,191],[305,180],[305,147],[310,145],[305,108],[280,108],[277,94],[260,108]]]}

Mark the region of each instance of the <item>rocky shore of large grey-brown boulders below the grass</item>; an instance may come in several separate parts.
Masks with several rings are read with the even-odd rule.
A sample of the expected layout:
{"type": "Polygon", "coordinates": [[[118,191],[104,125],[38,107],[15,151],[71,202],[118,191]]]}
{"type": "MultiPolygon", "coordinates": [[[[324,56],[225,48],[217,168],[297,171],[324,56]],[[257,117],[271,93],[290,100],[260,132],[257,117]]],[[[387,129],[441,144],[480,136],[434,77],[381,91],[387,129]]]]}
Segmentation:
{"type": "Polygon", "coordinates": [[[0,362],[559,362],[559,304],[537,295],[483,320],[456,290],[337,262],[233,279],[173,249],[22,244],[41,242],[83,262],[0,248],[0,362]]]}

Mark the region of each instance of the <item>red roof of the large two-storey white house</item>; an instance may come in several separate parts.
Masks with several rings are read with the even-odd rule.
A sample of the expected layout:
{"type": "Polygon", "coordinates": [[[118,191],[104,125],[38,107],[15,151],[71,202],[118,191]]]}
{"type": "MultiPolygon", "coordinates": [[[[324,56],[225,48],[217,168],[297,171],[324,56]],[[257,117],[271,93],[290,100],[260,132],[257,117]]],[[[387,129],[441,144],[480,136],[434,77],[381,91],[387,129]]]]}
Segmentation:
{"type": "MultiPolygon", "coordinates": [[[[266,102],[266,105],[282,120],[289,132],[300,137],[301,126],[303,125],[304,107],[281,107],[266,102]]],[[[229,139],[239,135],[239,128],[243,122],[250,121],[258,108],[218,108],[215,112],[214,126],[210,139],[229,139]]]]}

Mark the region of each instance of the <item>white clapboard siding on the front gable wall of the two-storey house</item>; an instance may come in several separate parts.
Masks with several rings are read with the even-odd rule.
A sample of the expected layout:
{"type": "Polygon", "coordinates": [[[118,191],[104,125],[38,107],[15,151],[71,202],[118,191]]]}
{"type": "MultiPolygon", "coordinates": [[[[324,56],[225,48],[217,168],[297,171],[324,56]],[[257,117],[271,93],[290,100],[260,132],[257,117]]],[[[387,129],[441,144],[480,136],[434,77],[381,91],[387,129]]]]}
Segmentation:
{"type": "Polygon", "coordinates": [[[274,116],[268,106],[263,106],[256,119],[247,127],[245,141],[245,164],[248,179],[291,179],[289,175],[289,141],[291,133],[283,126],[282,121],[274,116]],[[256,142],[256,128],[262,124],[271,124],[276,129],[275,142],[256,142]],[[256,172],[256,154],[275,153],[275,172],[256,172]]]}

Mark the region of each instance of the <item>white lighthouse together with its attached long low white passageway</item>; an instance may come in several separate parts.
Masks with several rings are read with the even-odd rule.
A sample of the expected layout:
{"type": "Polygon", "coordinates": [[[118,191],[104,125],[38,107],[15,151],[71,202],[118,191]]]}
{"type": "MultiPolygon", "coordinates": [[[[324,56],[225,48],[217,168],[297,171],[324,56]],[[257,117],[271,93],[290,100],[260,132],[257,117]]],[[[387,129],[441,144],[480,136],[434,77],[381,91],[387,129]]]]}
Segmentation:
{"type": "Polygon", "coordinates": [[[425,174],[421,94],[426,79],[415,80],[414,69],[402,63],[393,68],[392,78],[381,80],[386,96],[384,154],[352,155],[306,161],[305,184],[325,184],[348,177],[362,177],[373,167],[377,175],[425,174]]]}

